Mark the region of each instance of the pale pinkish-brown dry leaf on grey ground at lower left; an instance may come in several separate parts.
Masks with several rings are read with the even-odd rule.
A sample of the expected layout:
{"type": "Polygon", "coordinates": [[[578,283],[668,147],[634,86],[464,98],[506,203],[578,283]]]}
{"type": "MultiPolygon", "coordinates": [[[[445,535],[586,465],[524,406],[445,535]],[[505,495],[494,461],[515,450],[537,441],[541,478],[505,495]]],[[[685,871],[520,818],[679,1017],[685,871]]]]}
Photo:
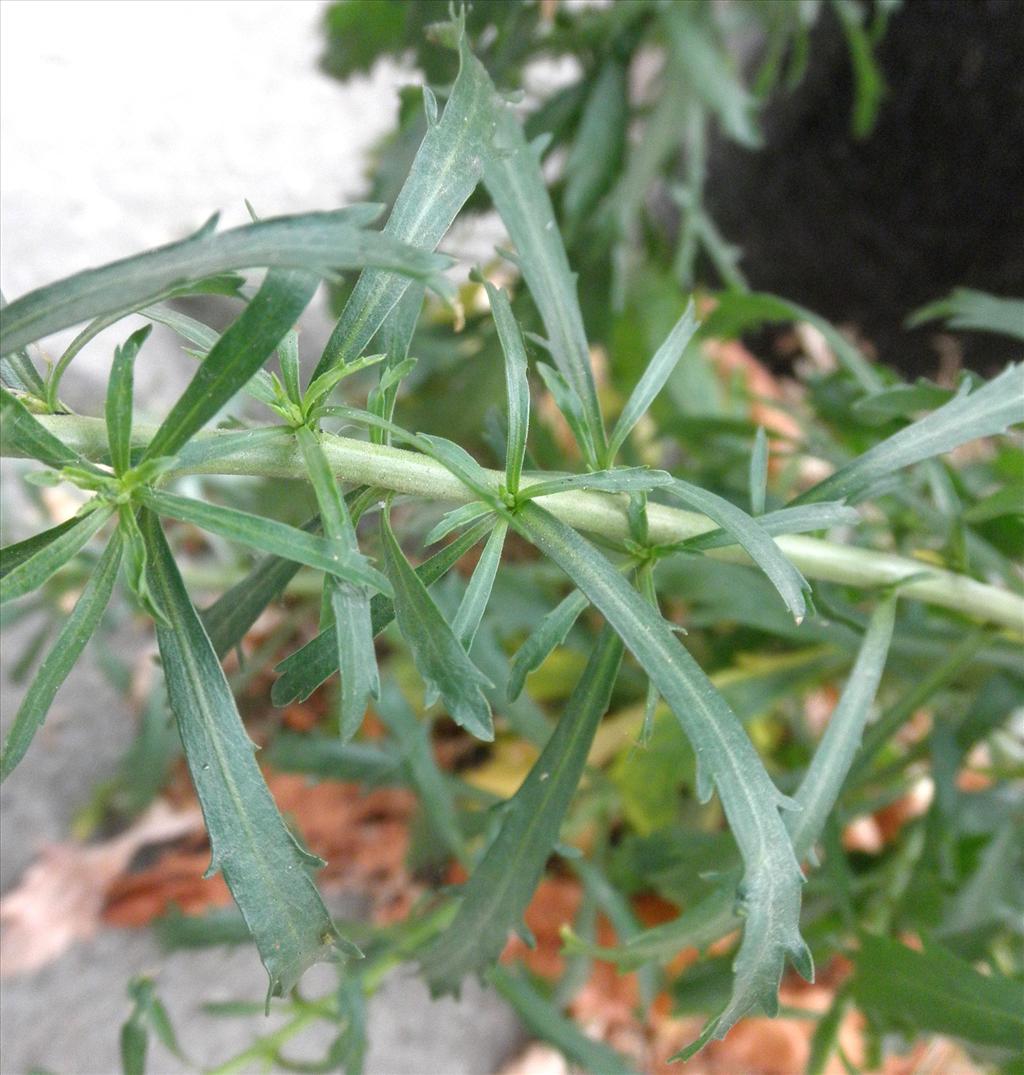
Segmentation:
{"type": "Polygon", "coordinates": [[[0,975],[34,971],[91,936],[112,882],[143,847],[201,828],[197,808],[176,811],[158,801],[113,840],[44,847],[20,884],[0,900],[0,975]]]}

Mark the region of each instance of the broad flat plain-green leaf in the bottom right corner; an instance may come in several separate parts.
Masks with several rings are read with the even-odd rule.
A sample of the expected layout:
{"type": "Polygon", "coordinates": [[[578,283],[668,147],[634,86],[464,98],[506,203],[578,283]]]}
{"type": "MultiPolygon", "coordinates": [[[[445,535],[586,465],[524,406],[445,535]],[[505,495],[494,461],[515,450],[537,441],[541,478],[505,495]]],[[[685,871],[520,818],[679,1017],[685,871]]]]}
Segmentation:
{"type": "Polygon", "coordinates": [[[935,944],[914,951],[898,941],[862,934],[852,983],[857,1006],[885,1027],[1014,1051],[1024,1040],[1024,985],[979,974],[935,944]]]}

